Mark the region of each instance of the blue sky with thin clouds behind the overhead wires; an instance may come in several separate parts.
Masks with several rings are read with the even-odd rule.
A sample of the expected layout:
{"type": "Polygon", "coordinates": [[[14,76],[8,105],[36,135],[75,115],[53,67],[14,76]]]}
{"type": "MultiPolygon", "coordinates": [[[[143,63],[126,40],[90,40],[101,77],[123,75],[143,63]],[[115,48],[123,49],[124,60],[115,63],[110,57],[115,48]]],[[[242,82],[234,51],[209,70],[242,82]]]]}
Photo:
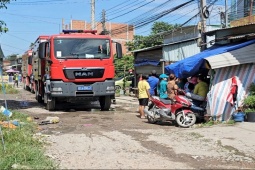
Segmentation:
{"type": "MultiPolygon", "coordinates": [[[[100,21],[102,10],[105,10],[108,22],[135,24],[136,35],[148,35],[153,22],[143,25],[144,21],[153,21],[160,13],[188,1],[95,0],[95,19],[100,21]]],[[[212,24],[220,24],[218,11],[222,7],[221,3],[215,3],[210,8],[209,21],[212,24]]],[[[194,0],[155,21],[183,24],[197,12],[198,3],[194,0]]],[[[62,19],[65,24],[70,23],[72,19],[91,22],[91,0],[11,0],[7,9],[0,9],[0,20],[7,24],[9,30],[0,34],[0,45],[4,55],[22,55],[39,35],[60,33],[62,19]]],[[[199,17],[195,17],[188,25],[196,25],[198,22],[199,17]]]]}

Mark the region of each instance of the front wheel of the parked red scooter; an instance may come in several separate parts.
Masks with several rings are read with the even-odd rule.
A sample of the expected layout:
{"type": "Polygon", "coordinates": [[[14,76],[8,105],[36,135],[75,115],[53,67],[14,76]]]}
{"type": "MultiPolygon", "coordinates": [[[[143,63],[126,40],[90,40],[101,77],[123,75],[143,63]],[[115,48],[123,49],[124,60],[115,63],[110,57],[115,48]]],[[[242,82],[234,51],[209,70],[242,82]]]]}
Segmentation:
{"type": "Polygon", "coordinates": [[[176,116],[176,122],[181,127],[190,127],[196,123],[196,115],[193,112],[186,114],[178,112],[176,116]]]}

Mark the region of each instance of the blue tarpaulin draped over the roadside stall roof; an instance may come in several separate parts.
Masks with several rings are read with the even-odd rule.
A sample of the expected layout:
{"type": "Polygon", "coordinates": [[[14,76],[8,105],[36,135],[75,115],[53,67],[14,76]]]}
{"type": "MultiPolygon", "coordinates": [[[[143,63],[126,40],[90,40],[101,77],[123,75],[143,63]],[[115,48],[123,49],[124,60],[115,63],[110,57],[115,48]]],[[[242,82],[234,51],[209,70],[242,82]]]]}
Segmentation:
{"type": "Polygon", "coordinates": [[[200,69],[205,67],[205,58],[237,50],[253,43],[255,43],[255,40],[250,40],[243,43],[232,43],[224,46],[214,45],[203,52],[166,66],[165,70],[168,73],[174,73],[176,77],[187,78],[189,76],[196,75],[199,73],[200,69]]]}

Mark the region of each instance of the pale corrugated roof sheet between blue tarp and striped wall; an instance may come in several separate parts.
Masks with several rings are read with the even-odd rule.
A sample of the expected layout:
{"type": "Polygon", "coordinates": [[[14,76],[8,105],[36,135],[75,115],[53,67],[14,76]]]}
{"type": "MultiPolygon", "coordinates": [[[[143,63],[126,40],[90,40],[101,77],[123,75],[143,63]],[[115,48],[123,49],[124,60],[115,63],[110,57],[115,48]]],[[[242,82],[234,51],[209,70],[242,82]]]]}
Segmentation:
{"type": "Polygon", "coordinates": [[[235,66],[246,63],[255,63],[255,44],[243,48],[214,55],[205,58],[211,65],[212,69],[235,66]]]}

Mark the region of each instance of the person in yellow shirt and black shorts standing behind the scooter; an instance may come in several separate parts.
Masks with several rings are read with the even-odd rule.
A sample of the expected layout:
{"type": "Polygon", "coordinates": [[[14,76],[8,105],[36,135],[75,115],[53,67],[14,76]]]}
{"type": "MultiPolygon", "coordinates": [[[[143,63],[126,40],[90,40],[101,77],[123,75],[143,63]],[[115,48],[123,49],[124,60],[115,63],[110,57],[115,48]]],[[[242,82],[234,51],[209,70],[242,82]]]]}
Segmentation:
{"type": "Polygon", "coordinates": [[[147,80],[148,76],[142,75],[142,80],[138,82],[139,113],[141,119],[145,119],[144,109],[148,106],[150,98],[150,85],[147,80]]]}

